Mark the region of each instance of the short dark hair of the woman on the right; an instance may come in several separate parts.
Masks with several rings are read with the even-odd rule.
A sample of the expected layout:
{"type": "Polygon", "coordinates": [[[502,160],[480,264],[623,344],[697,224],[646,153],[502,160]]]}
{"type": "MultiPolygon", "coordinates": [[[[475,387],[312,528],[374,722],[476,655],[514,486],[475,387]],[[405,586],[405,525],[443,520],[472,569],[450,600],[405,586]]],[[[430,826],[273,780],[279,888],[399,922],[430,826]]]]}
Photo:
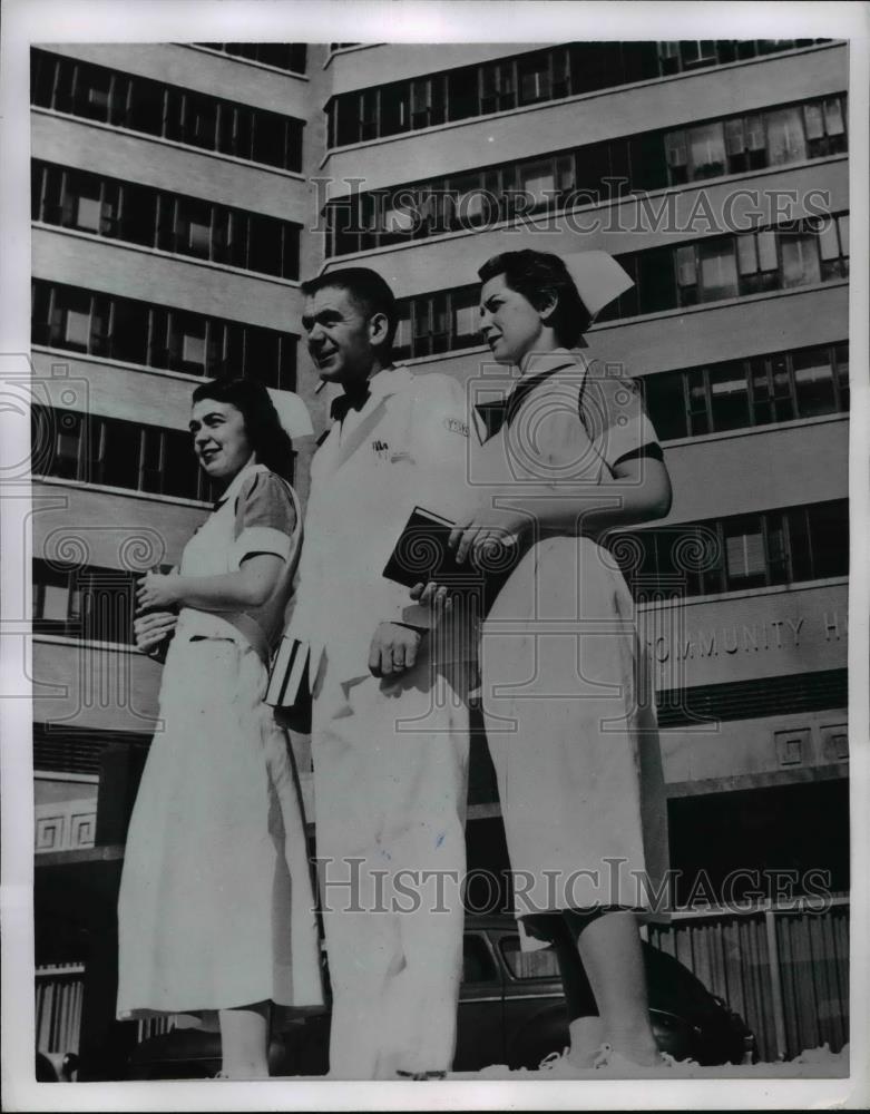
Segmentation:
{"type": "Polygon", "coordinates": [[[592,315],[583,304],[574,280],[560,255],[525,247],[519,252],[501,252],[487,260],[478,271],[481,282],[504,275],[511,290],[542,310],[550,295],[556,296],[556,310],[550,323],[556,338],[565,348],[574,348],[589,328],[592,315]]]}

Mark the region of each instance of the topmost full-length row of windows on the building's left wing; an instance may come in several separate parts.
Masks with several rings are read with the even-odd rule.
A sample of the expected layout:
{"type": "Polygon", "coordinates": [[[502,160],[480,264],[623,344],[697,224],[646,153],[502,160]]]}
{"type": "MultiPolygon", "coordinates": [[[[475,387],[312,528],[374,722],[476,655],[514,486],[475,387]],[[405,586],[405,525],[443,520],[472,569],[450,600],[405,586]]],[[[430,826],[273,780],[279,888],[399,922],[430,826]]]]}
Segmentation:
{"type": "Polygon", "coordinates": [[[40,108],[174,139],[205,150],[302,169],[303,120],[74,58],[31,52],[30,99],[40,108]]]}

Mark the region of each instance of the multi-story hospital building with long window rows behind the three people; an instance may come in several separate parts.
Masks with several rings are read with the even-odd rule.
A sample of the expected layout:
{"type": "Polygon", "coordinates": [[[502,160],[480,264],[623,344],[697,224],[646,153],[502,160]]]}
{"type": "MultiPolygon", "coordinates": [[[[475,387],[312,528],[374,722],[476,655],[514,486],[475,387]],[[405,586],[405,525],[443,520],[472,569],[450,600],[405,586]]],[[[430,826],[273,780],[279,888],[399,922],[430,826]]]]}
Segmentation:
{"type": "MultiPolygon", "coordinates": [[[[829,40],[35,51],[38,961],[99,966],[52,912],[123,853],[158,681],[125,578],[207,511],[190,388],[256,375],[319,432],[299,277],[350,263],[399,294],[400,359],[472,383],[476,268],[537,237],[635,280],[588,342],[641,381],[673,478],[617,547],[693,910],[661,942],[766,1053],[847,1039],[844,907],[788,903],[848,889],[847,74],[829,40]]],[[[472,755],[470,860],[507,866],[472,755]]]]}

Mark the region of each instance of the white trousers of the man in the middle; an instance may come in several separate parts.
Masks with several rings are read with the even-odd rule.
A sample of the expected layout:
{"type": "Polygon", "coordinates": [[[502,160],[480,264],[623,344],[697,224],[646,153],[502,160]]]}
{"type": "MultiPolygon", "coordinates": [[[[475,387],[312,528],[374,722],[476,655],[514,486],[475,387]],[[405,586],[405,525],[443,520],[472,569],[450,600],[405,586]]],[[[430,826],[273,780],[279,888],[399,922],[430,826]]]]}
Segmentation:
{"type": "Polygon", "coordinates": [[[314,694],[321,903],[332,984],[330,1076],[447,1071],[462,970],[467,668],[424,658],[399,681],[314,694]]]}

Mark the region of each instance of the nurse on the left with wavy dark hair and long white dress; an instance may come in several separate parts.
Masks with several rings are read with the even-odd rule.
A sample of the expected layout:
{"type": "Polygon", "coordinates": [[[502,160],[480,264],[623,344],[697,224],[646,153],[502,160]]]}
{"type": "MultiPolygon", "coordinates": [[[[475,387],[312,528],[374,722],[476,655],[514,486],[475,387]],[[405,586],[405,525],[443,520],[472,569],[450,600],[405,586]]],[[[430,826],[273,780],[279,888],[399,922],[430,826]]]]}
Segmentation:
{"type": "Polygon", "coordinates": [[[323,1003],[296,771],[263,701],[301,522],[283,478],[292,444],[264,387],[198,387],[189,424],[222,495],[178,573],[138,592],[137,645],[172,642],[127,838],[117,1008],[216,1019],[222,1076],[256,1078],[272,1010],[323,1003]]]}

